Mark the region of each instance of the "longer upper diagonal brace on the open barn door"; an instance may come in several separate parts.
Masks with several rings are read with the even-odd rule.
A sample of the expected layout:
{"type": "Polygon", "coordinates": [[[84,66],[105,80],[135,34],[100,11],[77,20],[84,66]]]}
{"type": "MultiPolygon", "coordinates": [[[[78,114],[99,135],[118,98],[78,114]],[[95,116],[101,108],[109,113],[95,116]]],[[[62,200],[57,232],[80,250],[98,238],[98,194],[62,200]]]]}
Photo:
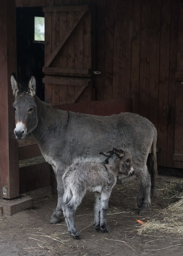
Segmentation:
{"type": "Polygon", "coordinates": [[[80,20],[82,19],[83,15],[85,14],[86,11],[81,11],[81,13],[79,13],[79,15],[77,16],[77,19],[75,20],[75,22],[73,23],[73,25],[71,26],[71,28],[69,28],[69,30],[67,31],[67,33],[65,34],[65,36],[63,37],[61,43],[57,46],[57,48],[54,50],[54,52],[52,53],[51,57],[46,61],[44,67],[48,67],[51,62],[53,61],[53,59],[55,58],[55,56],[57,55],[57,53],[59,52],[59,50],[62,48],[62,46],[65,44],[66,40],[69,38],[69,36],[72,34],[73,30],[75,29],[75,27],[77,26],[77,24],[80,22],[80,20]]]}

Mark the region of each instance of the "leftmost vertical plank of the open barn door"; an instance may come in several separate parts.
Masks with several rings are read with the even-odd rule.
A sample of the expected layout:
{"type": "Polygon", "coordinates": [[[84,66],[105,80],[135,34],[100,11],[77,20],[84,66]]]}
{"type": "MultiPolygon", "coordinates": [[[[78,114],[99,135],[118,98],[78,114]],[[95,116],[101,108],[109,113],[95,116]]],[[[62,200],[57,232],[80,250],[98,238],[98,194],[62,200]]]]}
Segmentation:
{"type": "MultiPolygon", "coordinates": [[[[45,62],[51,56],[51,13],[45,13],[45,62]]],[[[51,84],[45,83],[45,102],[51,104],[52,101],[52,89],[51,84]]]]}

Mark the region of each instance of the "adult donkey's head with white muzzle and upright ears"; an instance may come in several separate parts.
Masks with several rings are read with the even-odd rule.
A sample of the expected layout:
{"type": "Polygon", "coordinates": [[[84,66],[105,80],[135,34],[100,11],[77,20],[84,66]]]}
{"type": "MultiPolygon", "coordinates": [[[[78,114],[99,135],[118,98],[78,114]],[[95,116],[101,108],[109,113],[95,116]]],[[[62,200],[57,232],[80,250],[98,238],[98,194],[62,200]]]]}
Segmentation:
{"type": "Polygon", "coordinates": [[[35,103],[35,77],[31,77],[28,83],[28,91],[23,91],[21,85],[17,82],[14,75],[11,75],[11,87],[15,101],[15,136],[22,140],[26,134],[31,132],[37,126],[37,109],[35,103]]]}

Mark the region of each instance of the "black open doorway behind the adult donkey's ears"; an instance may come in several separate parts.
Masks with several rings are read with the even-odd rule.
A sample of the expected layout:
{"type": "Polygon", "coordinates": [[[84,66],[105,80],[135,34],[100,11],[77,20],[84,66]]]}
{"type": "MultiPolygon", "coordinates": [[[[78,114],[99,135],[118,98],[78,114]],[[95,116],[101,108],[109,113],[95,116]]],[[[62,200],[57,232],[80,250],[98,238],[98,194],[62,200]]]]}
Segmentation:
{"type": "Polygon", "coordinates": [[[42,83],[44,65],[44,41],[35,41],[34,19],[44,17],[42,7],[23,7],[16,10],[17,19],[17,78],[22,86],[34,75],[37,79],[37,96],[44,100],[42,83]]]}

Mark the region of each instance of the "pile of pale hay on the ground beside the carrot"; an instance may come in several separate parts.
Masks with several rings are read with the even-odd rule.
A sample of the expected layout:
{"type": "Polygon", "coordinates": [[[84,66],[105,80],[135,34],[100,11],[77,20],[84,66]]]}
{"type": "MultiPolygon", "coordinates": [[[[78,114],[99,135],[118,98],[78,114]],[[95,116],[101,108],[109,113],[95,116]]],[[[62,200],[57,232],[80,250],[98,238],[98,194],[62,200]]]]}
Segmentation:
{"type": "MultiPolygon", "coordinates": [[[[182,184],[183,185],[183,184],[182,184]]],[[[174,184],[166,184],[166,193],[171,192],[171,198],[176,198],[177,202],[170,204],[167,208],[162,210],[159,214],[149,218],[148,221],[142,226],[138,226],[138,234],[155,234],[155,233],[168,233],[178,237],[183,236],[183,192],[178,193],[175,191],[176,182],[174,184]],[[172,196],[172,194],[174,194],[172,196]]],[[[145,222],[145,221],[144,221],[145,222]]]]}

